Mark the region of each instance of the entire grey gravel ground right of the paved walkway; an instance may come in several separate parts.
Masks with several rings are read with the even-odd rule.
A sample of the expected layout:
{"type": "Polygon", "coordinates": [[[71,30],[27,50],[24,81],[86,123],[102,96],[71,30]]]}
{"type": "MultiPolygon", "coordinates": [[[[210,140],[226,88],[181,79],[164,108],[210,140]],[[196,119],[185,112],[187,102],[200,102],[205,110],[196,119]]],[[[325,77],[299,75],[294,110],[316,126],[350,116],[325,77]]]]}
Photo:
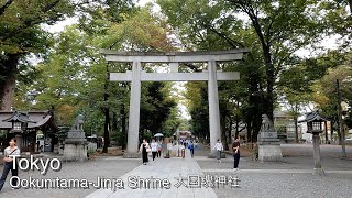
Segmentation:
{"type": "MultiPolygon", "coordinates": [[[[282,145],[284,158],[279,163],[253,162],[250,157],[241,157],[240,170],[232,170],[233,158],[228,155],[219,163],[207,158],[208,148],[199,147],[196,160],[206,175],[238,177],[240,187],[230,184],[215,189],[219,198],[229,197],[352,197],[352,160],[340,157],[341,146],[322,145],[322,167],[326,170],[348,170],[349,174],[327,173],[314,176],[309,173],[287,174],[275,173],[275,169],[309,170],[314,168],[312,146],[309,144],[282,145]],[[211,170],[218,172],[211,172],[211,170]],[[241,169],[243,170],[241,173],[241,169]],[[255,173],[245,172],[255,169],[255,173]],[[274,173],[265,173],[267,169],[274,173]],[[261,173],[262,172],[262,173],[261,173]]],[[[351,156],[352,147],[346,147],[351,156]]]]}

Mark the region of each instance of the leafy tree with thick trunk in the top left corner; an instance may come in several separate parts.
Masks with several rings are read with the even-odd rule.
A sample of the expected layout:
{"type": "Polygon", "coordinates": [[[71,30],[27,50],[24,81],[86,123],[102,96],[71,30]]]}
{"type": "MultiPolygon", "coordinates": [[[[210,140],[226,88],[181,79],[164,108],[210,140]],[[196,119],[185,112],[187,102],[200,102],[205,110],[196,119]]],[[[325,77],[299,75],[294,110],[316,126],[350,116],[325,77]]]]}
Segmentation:
{"type": "MultiPolygon", "coordinates": [[[[30,53],[44,53],[50,45],[50,34],[41,24],[53,24],[73,14],[74,4],[67,0],[1,1],[0,4],[0,108],[10,110],[14,86],[20,72],[31,70],[25,62],[30,53]],[[21,69],[21,70],[20,70],[21,69]]],[[[28,73],[26,73],[28,74],[28,73]]],[[[25,76],[24,76],[25,77],[25,76]]]]}

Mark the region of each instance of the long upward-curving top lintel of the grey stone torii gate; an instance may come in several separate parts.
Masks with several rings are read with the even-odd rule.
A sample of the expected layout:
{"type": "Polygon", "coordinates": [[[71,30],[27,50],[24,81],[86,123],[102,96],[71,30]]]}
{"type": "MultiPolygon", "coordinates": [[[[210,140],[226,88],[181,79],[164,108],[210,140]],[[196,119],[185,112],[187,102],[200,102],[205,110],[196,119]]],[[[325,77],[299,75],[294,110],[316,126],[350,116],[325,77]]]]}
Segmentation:
{"type": "Polygon", "coordinates": [[[185,62],[231,62],[242,59],[248,48],[237,48],[230,51],[197,51],[197,52],[121,52],[111,50],[100,50],[106,55],[108,62],[130,63],[139,61],[141,63],[185,63],[185,62]]]}

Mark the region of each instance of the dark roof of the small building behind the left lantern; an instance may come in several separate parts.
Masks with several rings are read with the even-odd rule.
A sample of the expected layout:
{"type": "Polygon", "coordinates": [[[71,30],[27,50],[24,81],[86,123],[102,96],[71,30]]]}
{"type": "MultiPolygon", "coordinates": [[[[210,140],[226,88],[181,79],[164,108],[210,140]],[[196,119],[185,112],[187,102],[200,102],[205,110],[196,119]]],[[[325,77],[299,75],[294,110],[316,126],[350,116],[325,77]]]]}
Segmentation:
{"type": "Polygon", "coordinates": [[[0,111],[0,130],[12,129],[11,120],[21,122],[28,122],[28,129],[41,128],[50,124],[54,130],[57,130],[57,125],[54,122],[54,118],[51,111],[26,111],[14,113],[14,111],[0,111]]]}

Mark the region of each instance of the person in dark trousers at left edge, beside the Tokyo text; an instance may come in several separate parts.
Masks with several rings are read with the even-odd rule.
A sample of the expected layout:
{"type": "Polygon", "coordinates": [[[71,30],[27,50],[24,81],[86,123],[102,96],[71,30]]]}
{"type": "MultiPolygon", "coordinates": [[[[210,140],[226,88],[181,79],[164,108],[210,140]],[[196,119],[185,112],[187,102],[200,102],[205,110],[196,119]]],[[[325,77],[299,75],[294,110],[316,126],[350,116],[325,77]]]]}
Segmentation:
{"type": "MultiPolygon", "coordinates": [[[[18,166],[18,162],[13,162],[14,160],[14,155],[20,156],[21,152],[20,148],[18,146],[15,146],[15,139],[11,139],[10,140],[10,146],[8,146],[7,148],[4,148],[3,151],[3,172],[2,172],[2,176],[0,178],[0,191],[3,187],[4,182],[7,180],[8,174],[11,169],[11,174],[12,176],[19,176],[19,166],[18,166]]],[[[18,178],[13,178],[11,179],[11,187],[12,189],[14,189],[14,186],[18,186],[18,178]]]]}

